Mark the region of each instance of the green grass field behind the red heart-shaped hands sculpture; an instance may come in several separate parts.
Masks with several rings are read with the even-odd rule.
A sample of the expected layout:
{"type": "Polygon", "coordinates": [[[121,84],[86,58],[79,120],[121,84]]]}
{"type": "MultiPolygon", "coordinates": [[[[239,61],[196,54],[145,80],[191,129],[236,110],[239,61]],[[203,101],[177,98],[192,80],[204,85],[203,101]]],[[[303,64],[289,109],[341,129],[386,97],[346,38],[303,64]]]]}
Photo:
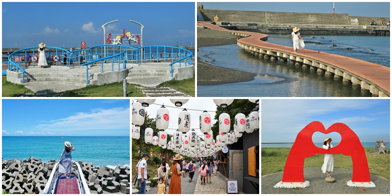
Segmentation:
{"type": "MultiPolygon", "coordinates": [[[[261,148],[261,173],[267,175],[276,172],[283,172],[287,157],[290,152],[289,147],[269,147],[261,148]]],[[[365,152],[368,159],[369,171],[371,174],[383,176],[390,179],[390,150],[388,154],[369,154],[372,147],[366,147],[365,152]]],[[[324,154],[316,154],[312,157],[305,158],[304,168],[319,167],[324,162],[324,154]]],[[[334,168],[343,168],[352,170],[352,160],[350,156],[343,154],[334,154],[334,168]]]]}

